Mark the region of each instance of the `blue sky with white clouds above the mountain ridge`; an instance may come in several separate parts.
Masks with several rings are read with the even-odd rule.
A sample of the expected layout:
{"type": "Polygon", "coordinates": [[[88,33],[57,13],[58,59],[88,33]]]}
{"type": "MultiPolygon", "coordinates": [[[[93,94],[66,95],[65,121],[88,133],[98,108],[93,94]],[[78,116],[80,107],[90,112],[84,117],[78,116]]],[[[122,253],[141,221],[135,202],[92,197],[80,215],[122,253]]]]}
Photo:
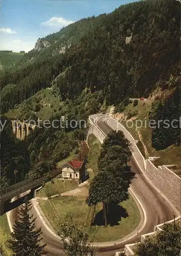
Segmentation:
{"type": "Polygon", "coordinates": [[[135,0],[0,0],[0,50],[30,51],[37,39],[135,0]]]}

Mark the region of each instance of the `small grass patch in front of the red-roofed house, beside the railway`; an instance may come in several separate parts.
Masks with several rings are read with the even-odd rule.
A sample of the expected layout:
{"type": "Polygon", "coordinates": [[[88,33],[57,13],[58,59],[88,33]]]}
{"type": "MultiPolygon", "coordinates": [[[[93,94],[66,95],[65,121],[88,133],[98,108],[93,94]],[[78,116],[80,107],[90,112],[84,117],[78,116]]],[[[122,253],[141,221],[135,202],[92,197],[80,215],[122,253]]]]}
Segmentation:
{"type": "Polygon", "coordinates": [[[44,187],[42,187],[37,193],[37,197],[49,197],[57,194],[61,194],[66,191],[73,190],[78,187],[77,183],[74,180],[60,180],[53,179],[47,182],[44,187]]]}

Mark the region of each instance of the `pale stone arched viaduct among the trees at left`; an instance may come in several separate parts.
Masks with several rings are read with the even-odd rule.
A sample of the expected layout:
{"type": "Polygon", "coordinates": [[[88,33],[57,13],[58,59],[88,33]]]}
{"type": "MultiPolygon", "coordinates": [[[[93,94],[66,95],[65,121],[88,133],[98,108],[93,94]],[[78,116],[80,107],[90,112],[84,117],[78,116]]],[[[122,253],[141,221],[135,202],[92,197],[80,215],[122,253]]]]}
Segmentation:
{"type": "Polygon", "coordinates": [[[38,126],[36,124],[21,122],[19,120],[11,120],[13,134],[17,139],[24,140],[31,131],[37,130],[38,126]]]}

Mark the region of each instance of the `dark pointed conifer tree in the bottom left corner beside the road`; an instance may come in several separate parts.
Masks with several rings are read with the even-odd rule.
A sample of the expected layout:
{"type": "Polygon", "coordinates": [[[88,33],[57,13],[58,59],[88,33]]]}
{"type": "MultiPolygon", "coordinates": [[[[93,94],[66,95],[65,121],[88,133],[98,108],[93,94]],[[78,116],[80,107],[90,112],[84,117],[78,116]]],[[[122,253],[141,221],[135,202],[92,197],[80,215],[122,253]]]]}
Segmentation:
{"type": "Polygon", "coordinates": [[[12,240],[9,240],[9,247],[13,250],[13,255],[17,256],[39,256],[46,244],[40,246],[41,228],[35,229],[35,220],[30,216],[31,203],[26,201],[18,212],[18,220],[11,233],[12,240]]]}

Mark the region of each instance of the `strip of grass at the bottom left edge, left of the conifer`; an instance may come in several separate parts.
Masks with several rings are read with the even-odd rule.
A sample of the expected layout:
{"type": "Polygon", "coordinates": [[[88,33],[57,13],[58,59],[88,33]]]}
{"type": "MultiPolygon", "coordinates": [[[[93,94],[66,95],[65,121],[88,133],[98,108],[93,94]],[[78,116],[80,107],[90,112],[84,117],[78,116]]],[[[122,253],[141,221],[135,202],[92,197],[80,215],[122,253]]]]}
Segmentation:
{"type": "Polygon", "coordinates": [[[7,256],[12,255],[11,249],[8,248],[8,239],[11,239],[11,231],[9,229],[8,220],[6,214],[0,216],[0,244],[7,256]]]}

